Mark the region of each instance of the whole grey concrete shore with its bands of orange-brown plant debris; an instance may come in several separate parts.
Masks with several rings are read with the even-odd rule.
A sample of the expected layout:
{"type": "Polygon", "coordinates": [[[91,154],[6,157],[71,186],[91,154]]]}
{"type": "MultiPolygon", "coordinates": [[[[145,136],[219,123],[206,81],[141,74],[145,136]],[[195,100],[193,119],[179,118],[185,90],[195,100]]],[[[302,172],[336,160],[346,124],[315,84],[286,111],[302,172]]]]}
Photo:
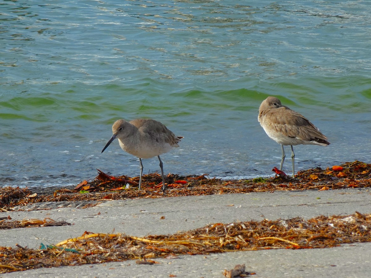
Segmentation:
{"type": "MultiPolygon", "coordinates": [[[[82,182],[76,189],[49,188],[38,193],[14,189],[18,196],[23,194],[17,206],[10,202],[8,209],[4,209],[1,203],[0,216],[9,219],[0,220],[4,227],[0,273],[4,277],[39,277],[45,274],[45,267],[52,267],[47,273],[62,277],[57,267],[65,265],[69,267],[63,268],[63,275],[70,276],[81,276],[83,269],[86,274],[83,277],[102,276],[102,273],[119,277],[122,271],[130,277],[141,277],[138,273],[145,277],[210,277],[210,273],[212,277],[221,277],[223,269],[233,269],[236,264],[246,264],[246,271],[256,272],[256,277],[313,277],[313,273],[335,275],[338,270],[347,273],[349,265],[344,258],[365,258],[369,254],[364,246],[371,242],[368,236],[371,164],[356,161],[341,167],[341,170],[301,171],[295,180],[279,176],[221,181],[204,176],[170,175],[169,181],[174,182],[166,195],[161,193],[158,174],[146,175],[141,191],[134,187],[120,189],[128,181],[135,185],[138,177],[103,180],[102,175],[82,182]],[[86,193],[81,193],[82,190],[86,193]],[[286,225],[288,221],[293,221],[292,228],[286,225]],[[307,221],[317,224],[309,228],[307,221]],[[324,222],[319,225],[318,221],[324,222]],[[337,227],[336,223],[344,225],[337,227]],[[16,226],[22,224],[28,228],[16,226]],[[257,226],[246,228],[250,225],[257,226]],[[335,230],[331,225],[335,225],[335,230]],[[303,229],[307,231],[300,232],[303,229]],[[340,229],[344,229],[343,234],[335,235],[340,229]],[[296,230],[299,234],[292,234],[296,230]],[[79,238],[82,235],[85,237],[79,238]],[[188,235],[191,237],[187,238],[188,235]],[[246,238],[239,242],[239,235],[246,238]],[[175,240],[175,249],[170,238],[175,240]],[[201,241],[195,242],[196,238],[201,241]],[[213,238],[216,245],[205,244],[213,238]],[[262,245],[240,247],[254,242],[262,245]],[[205,245],[204,249],[201,245],[205,245]],[[312,248],[320,249],[309,252],[312,248]],[[259,255],[263,253],[264,258],[259,255]],[[276,257],[290,257],[294,253],[300,254],[295,257],[306,258],[308,272],[301,272],[303,263],[282,262],[276,257]],[[329,257],[323,259],[324,253],[329,257]],[[171,255],[176,259],[167,258],[171,255]],[[24,260],[29,257],[34,259],[24,260]],[[260,259],[255,261],[256,257],[260,259]],[[139,258],[139,262],[133,258],[139,258]],[[143,258],[154,260],[157,267],[142,265],[143,258]],[[190,262],[197,268],[196,274],[189,271],[190,262]],[[287,275],[287,269],[282,269],[280,264],[285,264],[292,275],[287,275]],[[319,269],[319,264],[324,267],[319,269]],[[337,268],[329,269],[331,265],[337,268]],[[275,266],[274,270],[271,266],[275,266]]],[[[6,189],[1,190],[0,196],[4,198],[6,189]]],[[[358,264],[357,269],[352,268],[353,275],[363,277],[371,270],[363,260],[352,263],[358,264]]]]}

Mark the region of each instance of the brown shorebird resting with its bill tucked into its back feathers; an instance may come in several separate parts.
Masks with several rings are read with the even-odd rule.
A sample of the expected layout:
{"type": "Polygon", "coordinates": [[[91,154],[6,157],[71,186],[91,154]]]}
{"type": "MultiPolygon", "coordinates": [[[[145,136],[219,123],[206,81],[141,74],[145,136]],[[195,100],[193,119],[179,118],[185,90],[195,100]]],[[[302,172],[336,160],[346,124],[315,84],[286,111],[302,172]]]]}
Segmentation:
{"type": "Polygon", "coordinates": [[[277,97],[269,96],[263,100],[259,107],[259,116],[257,119],[269,138],[281,144],[282,160],[280,170],[282,170],[283,161],[286,156],[283,145],[291,146],[293,178],[295,178],[295,153],[292,148],[293,145],[327,146],[330,144],[326,136],[309,122],[309,120],[298,112],[282,105],[277,97]]]}

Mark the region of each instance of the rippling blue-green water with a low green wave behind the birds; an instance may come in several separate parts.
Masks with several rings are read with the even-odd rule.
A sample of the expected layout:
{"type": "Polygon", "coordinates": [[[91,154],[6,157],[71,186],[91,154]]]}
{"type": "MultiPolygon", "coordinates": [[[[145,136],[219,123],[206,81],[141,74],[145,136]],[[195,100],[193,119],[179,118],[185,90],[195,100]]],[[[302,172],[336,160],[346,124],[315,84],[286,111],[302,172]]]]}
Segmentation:
{"type": "Polygon", "coordinates": [[[185,137],[165,172],[270,175],[280,146],[257,122],[269,95],[331,142],[294,147],[297,170],[370,162],[368,1],[161,3],[0,3],[0,186],[139,175],[117,141],[101,153],[120,118],[185,137]]]}

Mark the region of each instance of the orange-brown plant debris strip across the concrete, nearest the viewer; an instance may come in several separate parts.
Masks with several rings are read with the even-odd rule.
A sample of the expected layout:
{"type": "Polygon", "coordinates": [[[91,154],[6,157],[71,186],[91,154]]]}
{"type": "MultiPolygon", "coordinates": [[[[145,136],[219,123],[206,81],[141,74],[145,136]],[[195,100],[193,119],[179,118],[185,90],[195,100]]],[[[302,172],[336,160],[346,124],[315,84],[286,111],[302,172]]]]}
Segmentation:
{"type": "Polygon", "coordinates": [[[0,273],[129,259],[177,258],[177,255],[326,248],[371,242],[370,229],[371,214],[355,212],[352,215],[318,216],[309,220],[296,217],[275,221],[263,219],[215,223],[173,235],[137,237],[85,232],[79,238],[67,239],[56,245],[42,245],[39,250],[22,246],[0,247],[0,273]]]}

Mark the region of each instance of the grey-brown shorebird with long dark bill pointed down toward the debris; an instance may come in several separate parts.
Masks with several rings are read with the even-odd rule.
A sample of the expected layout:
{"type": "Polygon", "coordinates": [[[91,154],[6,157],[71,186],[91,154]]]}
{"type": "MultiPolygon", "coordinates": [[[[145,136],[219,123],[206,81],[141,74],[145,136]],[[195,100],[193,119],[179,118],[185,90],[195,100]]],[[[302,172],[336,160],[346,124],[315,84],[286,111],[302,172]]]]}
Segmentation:
{"type": "Polygon", "coordinates": [[[160,155],[174,147],[179,147],[178,143],[183,137],[175,136],[162,123],[152,119],[135,119],[130,122],[123,119],[116,120],[112,126],[112,132],[113,135],[102,152],[117,138],[121,149],[139,158],[141,167],[139,189],[141,188],[143,174],[142,158],[157,156],[160,161],[162,191],[165,191],[167,185],[165,184],[164,168],[160,155]]]}

